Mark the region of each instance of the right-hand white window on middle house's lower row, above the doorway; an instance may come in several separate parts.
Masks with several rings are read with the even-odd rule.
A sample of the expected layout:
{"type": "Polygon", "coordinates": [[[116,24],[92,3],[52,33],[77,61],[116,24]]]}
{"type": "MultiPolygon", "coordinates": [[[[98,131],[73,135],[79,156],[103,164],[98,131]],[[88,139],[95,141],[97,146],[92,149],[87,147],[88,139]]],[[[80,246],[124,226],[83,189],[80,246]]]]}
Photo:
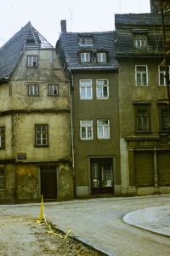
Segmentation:
{"type": "Polygon", "coordinates": [[[110,120],[97,120],[98,139],[110,139],[110,120]]]}

